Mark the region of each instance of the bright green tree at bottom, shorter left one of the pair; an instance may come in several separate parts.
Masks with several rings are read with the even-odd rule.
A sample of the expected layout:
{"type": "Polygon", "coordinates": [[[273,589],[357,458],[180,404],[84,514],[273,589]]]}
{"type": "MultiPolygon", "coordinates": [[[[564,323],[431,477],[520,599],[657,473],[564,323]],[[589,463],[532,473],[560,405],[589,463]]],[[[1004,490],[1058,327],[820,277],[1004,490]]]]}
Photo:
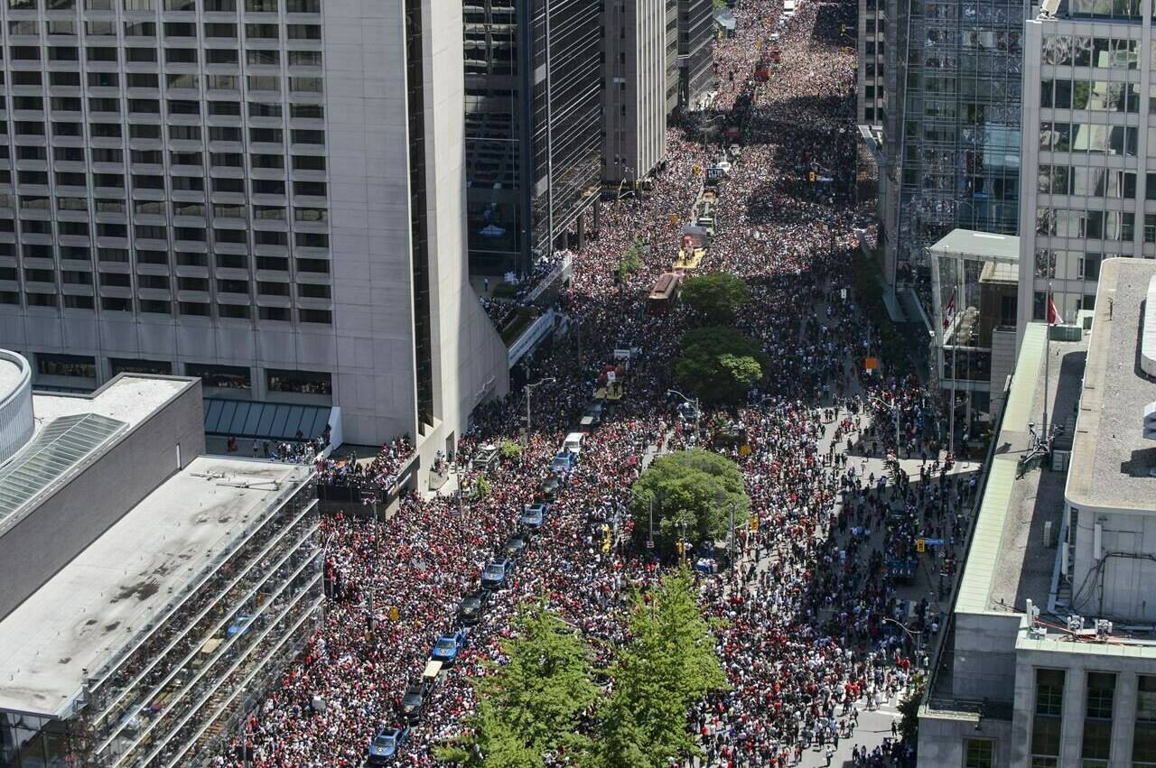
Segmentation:
{"type": "Polygon", "coordinates": [[[541,602],[523,606],[509,658],[474,683],[481,699],[468,730],[437,751],[439,760],[474,766],[538,768],[544,753],[584,753],[579,717],[596,699],[583,639],[541,602]]]}

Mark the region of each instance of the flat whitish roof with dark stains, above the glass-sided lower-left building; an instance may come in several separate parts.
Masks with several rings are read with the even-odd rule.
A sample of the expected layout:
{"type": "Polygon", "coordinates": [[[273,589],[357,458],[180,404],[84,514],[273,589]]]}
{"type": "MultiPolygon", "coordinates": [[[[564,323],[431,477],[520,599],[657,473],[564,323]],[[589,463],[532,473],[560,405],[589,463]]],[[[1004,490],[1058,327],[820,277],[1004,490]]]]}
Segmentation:
{"type": "Polygon", "coordinates": [[[193,460],[0,621],[0,709],[54,715],[309,468],[193,460]],[[244,487],[249,485],[249,487],[244,487]]]}

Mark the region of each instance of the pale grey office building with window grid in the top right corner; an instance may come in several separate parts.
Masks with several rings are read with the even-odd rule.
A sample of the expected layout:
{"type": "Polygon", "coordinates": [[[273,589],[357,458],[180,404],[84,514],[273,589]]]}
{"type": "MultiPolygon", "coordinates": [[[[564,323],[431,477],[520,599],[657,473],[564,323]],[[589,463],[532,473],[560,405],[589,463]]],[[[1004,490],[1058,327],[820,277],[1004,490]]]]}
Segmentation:
{"type": "Polygon", "coordinates": [[[1074,322],[1103,259],[1156,256],[1156,59],[1136,24],[1150,16],[1141,0],[1080,0],[1025,25],[1021,336],[1048,290],[1074,322]]]}

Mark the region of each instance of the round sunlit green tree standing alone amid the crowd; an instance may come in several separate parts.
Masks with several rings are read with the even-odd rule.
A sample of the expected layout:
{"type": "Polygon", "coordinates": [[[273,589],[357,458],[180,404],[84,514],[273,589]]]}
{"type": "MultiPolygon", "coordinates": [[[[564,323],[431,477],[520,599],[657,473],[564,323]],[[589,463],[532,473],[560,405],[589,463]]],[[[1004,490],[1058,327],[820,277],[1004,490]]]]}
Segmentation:
{"type": "Polygon", "coordinates": [[[633,491],[635,530],[647,535],[653,504],[655,534],[668,543],[680,523],[686,524],[692,543],[722,538],[731,525],[731,505],[735,507],[735,527],[746,522],[750,507],[739,467],[702,448],[659,456],[633,491]]]}

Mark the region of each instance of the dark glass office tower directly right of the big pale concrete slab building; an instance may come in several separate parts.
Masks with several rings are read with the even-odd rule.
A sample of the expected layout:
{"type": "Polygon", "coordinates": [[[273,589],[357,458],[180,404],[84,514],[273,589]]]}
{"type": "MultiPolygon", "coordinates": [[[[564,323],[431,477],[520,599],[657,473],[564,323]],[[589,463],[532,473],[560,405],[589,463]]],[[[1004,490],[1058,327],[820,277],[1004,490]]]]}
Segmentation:
{"type": "Polygon", "coordinates": [[[464,3],[469,267],[527,273],[598,199],[600,3],[464,3]]]}

